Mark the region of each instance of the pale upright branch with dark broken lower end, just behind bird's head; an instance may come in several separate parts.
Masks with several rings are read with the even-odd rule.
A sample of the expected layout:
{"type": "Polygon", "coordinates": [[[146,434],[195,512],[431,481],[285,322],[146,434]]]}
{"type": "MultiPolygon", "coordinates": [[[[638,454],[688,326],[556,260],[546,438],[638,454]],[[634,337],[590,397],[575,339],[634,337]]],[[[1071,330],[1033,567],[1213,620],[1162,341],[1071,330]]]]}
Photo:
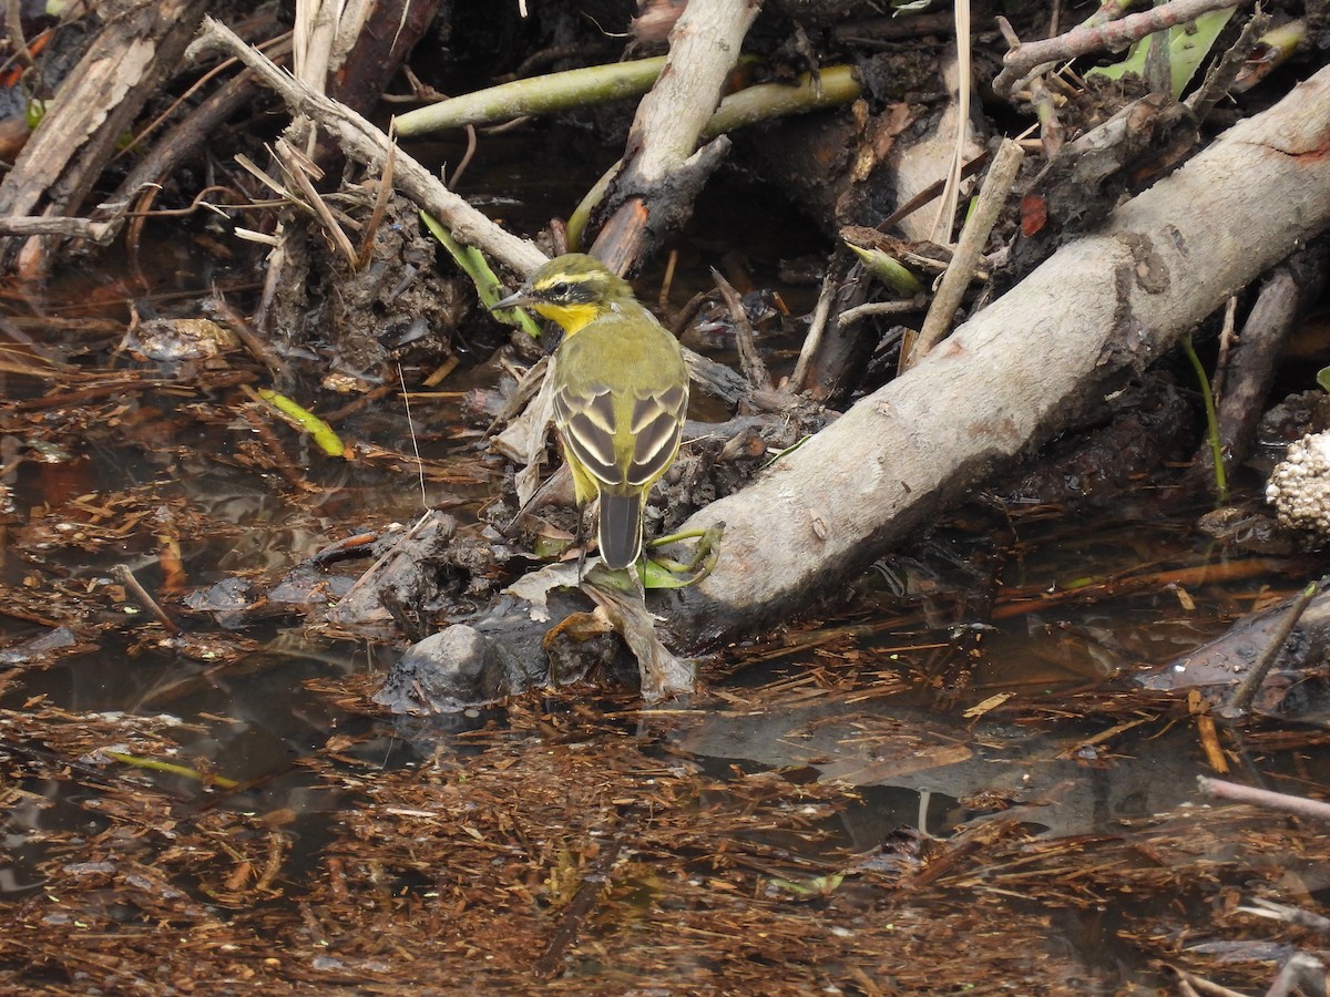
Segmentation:
{"type": "Polygon", "coordinates": [[[592,255],[616,273],[630,270],[654,238],[678,230],[702,183],[729,150],[728,138],[697,148],[721,102],[761,0],[690,0],[670,32],[660,78],[628,133],[622,167],[610,183],[592,255]]]}

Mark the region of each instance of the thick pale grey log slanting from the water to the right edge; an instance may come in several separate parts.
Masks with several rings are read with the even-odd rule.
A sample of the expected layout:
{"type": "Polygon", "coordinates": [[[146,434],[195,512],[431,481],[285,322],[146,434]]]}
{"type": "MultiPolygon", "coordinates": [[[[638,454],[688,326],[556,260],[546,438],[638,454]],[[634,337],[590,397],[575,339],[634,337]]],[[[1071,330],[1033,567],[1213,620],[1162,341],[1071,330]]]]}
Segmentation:
{"type": "Polygon", "coordinates": [[[1069,243],[918,367],[713,502],[714,572],[664,597],[676,646],[811,609],[1049,439],[1330,225],[1330,69],[1069,243]]]}

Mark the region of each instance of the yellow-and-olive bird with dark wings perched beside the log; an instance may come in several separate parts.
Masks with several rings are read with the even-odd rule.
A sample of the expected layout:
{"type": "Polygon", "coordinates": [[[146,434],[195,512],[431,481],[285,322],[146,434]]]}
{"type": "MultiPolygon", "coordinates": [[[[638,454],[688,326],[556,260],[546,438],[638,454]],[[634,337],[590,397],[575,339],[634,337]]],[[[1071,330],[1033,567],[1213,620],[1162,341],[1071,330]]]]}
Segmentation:
{"type": "Polygon", "coordinates": [[[555,425],[577,505],[600,498],[601,561],[642,553],[642,504],[678,452],[688,367],[678,342],[604,263],[569,253],[493,304],[533,308],[564,330],[551,372],[555,425]]]}

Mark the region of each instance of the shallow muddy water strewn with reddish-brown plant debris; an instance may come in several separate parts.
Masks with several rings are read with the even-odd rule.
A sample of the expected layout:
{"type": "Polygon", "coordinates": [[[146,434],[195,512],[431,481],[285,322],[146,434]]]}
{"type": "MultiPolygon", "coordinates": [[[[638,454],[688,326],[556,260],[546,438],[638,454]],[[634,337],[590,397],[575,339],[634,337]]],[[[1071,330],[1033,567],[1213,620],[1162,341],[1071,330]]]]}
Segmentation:
{"type": "MultiPolygon", "coordinates": [[[[214,277],[172,273],[189,294],[214,277]]],[[[122,303],[76,310],[110,283],[78,279],[5,303],[8,319],[125,322],[122,303]]],[[[196,307],[161,292],[158,310],[196,307]]],[[[842,617],[702,658],[681,701],[587,686],[391,718],[370,701],[400,653],[391,627],[336,639],[254,593],[419,514],[396,396],[338,425],[395,459],[327,459],[279,425],[297,489],[243,460],[230,388],[116,356],[117,335],[84,350],[77,331],[23,328],[5,339],[25,362],[176,380],[7,415],[0,651],[49,623],[77,641],[0,671],[13,986],[1150,992],[1165,964],[1271,976],[1305,939],[1236,913],[1252,893],[1330,901],[1315,830],[1210,811],[1185,694],[1132,682],[1323,560],[1234,572],[1246,556],[1198,536],[1194,509],[971,510],[859,580],[842,617]],[[218,602],[237,578],[254,592],[218,602]]],[[[473,378],[412,409],[427,498],[464,522],[503,472],[458,431],[473,378]]],[[[0,386],[8,403],[43,391],[0,386]]],[[[364,566],[332,566],[310,597],[335,601],[364,566]]],[[[1327,740],[1271,720],[1222,743],[1234,778],[1323,795],[1327,740]]]]}

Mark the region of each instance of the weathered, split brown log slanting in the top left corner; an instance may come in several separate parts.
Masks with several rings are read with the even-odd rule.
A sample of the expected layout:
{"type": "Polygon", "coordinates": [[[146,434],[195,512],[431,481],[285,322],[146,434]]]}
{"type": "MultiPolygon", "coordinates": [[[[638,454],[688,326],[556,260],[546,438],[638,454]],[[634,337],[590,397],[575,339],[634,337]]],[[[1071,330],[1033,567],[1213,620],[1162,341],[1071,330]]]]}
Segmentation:
{"type": "MultiPolygon", "coordinates": [[[[60,85],[41,125],[0,183],[0,215],[72,215],[158,84],[178,68],[207,0],[132,0],[100,8],[105,24],[60,85]]],[[[52,237],[0,242],[7,269],[39,274],[52,237]]]]}

